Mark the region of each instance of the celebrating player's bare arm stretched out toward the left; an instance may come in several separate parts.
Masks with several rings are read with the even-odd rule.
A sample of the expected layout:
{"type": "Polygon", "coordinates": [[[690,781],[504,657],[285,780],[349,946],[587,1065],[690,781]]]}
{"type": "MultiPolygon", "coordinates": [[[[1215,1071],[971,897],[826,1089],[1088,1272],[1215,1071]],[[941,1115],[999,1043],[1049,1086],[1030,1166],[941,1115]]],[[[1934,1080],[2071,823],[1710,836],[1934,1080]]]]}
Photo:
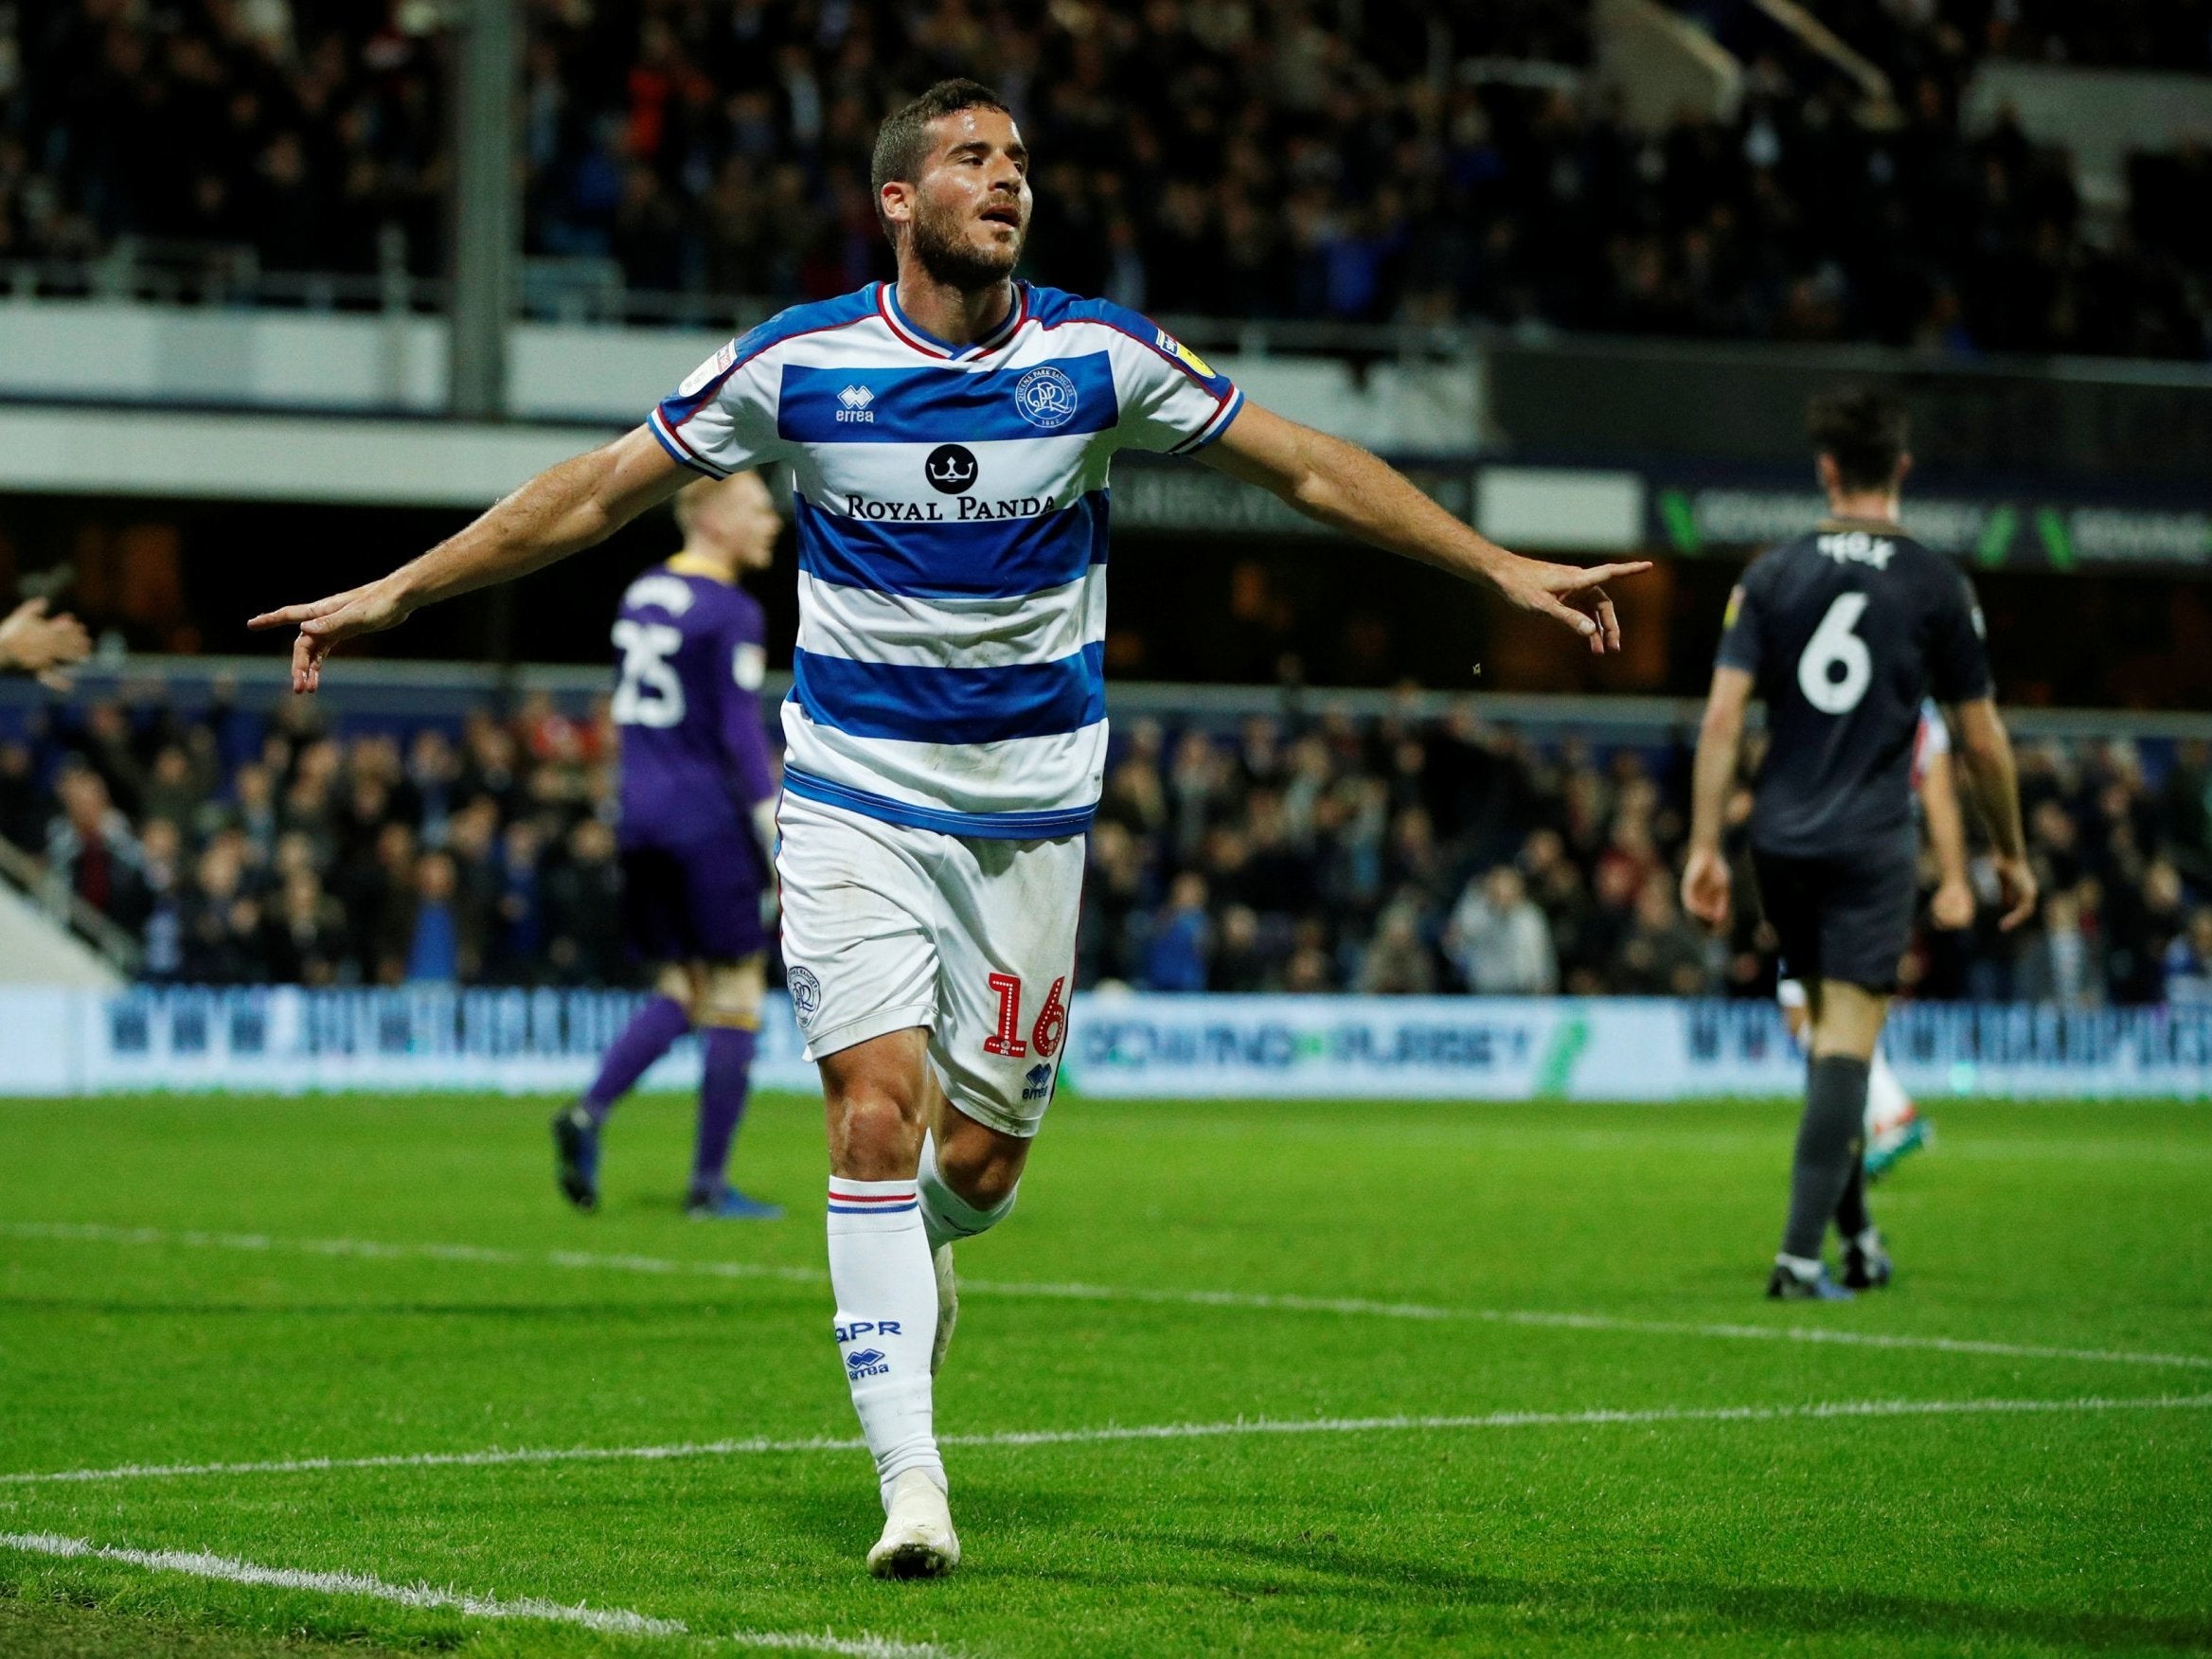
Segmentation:
{"type": "Polygon", "coordinates": [[[248,628],[288,628],[292,690],[323,684],[323,659],[341,639],[394,628],[411,613],[456,593],[489,588],[597,546],[655,502],[675,495],[690,473],[646,427],[591,453],[549,467],[482,518],[438,542],[392,575],[312,604],[265,611],[248,628]]]}

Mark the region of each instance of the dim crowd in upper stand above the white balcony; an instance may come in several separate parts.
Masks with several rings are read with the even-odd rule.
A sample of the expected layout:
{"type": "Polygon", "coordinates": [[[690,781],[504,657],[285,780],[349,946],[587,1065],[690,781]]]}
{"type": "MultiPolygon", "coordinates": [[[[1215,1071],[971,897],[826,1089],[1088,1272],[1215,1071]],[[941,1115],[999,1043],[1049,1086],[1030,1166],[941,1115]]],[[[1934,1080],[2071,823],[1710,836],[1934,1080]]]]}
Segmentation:
{"type": "MultiPolygon", "coordinates": [[[[1723,38],[1752,11],[1681,9],[1723,38]]],[[[0,4],[0,259],[137,234],[367,272],[398,234],[442,270],[418,11],[0,4]]],[[[2212,155],[2093,228],[2066,155],[1960,115],[1991,53],[2212,69],[2201,0],[1823,11],[1893,111],[1747,46],[1734,119],[1644,135],[1577,75],[1579,4],[531,0],[529,246],[633,290],[845,292],[885,259],[876,119],[973,73],[1037,153],[1031,270],[1157,314],[2205,356],[2212,155]]]]}

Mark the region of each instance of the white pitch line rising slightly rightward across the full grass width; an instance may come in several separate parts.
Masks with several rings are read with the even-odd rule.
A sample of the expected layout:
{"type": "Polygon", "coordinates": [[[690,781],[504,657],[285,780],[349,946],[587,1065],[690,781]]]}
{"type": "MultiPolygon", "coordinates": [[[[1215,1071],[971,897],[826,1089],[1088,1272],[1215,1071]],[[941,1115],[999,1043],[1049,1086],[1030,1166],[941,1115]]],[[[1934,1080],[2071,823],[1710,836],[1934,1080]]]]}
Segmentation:
{"type": "MultiPolygon", "coordinates": [[[[1812,1405],[1681,1405],[1599,1407],[1593,1411],[1484,1411],[1475,1416],[1387,1418],[1232,1418],[1228,1422],[1106,1425],[1097,1429],[1004,1429],[947,1433],[940,1447],[1084,1447],[1124,1440],[1219,1440],[1228,1436],[1389,1433],[1449,1429],[1610,1429],[1652,1422],[1790,1422],[1798,1418],[1975,1418],[2086,1411],[2203,1411],[2212,1394],[2150,1394],[2137,1398],[2081,1396],[2073,1400],[1825,1400],[1812,1405]]],[[[91,1480],[177,1480],[188,1475],[303,1475],[332,1469],[484,1469],[546,1462],[666,1462],[675,1458],[743,1458],[765,1453],[865,1451],[858,1436],[799,1440],[684,1440],[664,1447],[535,1447],[484,1451],[398,1451],[374,1458],[285,1458],[265,1462],[115,1464],[111,1469],[53,1469],[0,1475],[7,1486],[80,1484],[91,1480]]]]}

